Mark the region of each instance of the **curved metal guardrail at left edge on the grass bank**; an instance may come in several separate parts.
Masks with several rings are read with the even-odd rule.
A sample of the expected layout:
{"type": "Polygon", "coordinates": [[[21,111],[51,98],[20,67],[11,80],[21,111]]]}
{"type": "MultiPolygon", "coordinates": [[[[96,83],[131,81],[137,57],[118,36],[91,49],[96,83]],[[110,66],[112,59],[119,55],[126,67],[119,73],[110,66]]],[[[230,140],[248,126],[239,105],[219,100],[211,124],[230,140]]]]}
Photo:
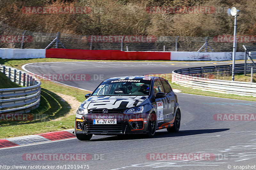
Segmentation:
{"type": "Polygon", "coordinates": [[[26,113],[39,106],[41,82],[33,75],[13,67],[0,65],[0,71],[20,88],[0,89],[0,113],[26,113]]]}

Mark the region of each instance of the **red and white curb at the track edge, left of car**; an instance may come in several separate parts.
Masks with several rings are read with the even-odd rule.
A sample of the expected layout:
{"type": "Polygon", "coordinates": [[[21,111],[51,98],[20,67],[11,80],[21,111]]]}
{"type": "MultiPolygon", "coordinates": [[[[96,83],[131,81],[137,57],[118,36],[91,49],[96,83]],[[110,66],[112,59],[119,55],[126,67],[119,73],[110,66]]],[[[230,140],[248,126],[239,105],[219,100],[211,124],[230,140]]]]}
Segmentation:
{"type": "Polygon", "coordinates": [[[15,138],[4,138],[4,139],[0,139],[0,148],[75,138],[76,135],[73,134],[73,131],[74,129],[68,129],[64,131],[54,131],[54,132],[40,133],[36,135],[28,135],[28,136],[21,136],[21,137],[15,137],[15,138]]]}

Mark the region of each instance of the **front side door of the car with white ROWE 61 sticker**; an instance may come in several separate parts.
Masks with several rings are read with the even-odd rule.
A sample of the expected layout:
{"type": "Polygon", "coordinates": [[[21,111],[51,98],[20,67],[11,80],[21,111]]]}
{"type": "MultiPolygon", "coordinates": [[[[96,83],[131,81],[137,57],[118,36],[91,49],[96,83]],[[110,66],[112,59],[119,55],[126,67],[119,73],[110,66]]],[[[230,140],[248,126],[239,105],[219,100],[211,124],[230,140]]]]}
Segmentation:
{"type": "MultiPolygon", "coordinates": [[[[153,89],[155,91],[155,94],[158,92],[165,93],[163,84],[160,79],[155,80],[153,89]]],[[[157,122],[160,124],[164,123],[163,115],[164,115],[164,112],[166,111],[166,103],[167,103],[167,100],[165,97],[156,99],[156,110],[157,110],[156,117],[157,117],[157,122]]]]}

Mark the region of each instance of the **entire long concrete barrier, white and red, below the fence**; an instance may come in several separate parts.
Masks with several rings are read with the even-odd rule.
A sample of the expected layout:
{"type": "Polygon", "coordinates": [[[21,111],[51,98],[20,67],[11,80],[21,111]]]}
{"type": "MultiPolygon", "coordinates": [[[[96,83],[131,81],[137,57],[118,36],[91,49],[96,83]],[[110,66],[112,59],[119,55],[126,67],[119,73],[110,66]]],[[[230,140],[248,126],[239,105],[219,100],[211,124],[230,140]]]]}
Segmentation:
{"type": "MultiPolygon", "coordinates": [[[[232,52],[159,52],[79,49],[12,49],[0,48],[2,59],[65,58],[78,60],[173,60],[173,61],[225,61],[232,60],[232,52]]],[[[244,52],[236,53],[243,60],[244,52]]]]}

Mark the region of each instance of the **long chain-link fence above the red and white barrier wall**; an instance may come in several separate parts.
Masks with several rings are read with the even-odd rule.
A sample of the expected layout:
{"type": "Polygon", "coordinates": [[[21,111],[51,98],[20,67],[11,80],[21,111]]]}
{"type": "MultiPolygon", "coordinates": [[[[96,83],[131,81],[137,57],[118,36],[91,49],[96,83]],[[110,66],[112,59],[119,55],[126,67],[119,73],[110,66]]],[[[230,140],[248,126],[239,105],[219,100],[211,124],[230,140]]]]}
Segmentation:
{"type": "MultiPolygon", "coordinates": [[[[93,36],[65,33],[43,33],[21,30],[0,22],[0,48],[68,48],[87,50],[122,51],[200,51],[232,52],[233,36],[182,37],[182,36],[93,36]]],[[[256,37],[252,37],[256,38],[256,37]]],[[[242,45],[255,46],[256,40],[247,38],[237,42],[237,52],[242,45]]]]}

